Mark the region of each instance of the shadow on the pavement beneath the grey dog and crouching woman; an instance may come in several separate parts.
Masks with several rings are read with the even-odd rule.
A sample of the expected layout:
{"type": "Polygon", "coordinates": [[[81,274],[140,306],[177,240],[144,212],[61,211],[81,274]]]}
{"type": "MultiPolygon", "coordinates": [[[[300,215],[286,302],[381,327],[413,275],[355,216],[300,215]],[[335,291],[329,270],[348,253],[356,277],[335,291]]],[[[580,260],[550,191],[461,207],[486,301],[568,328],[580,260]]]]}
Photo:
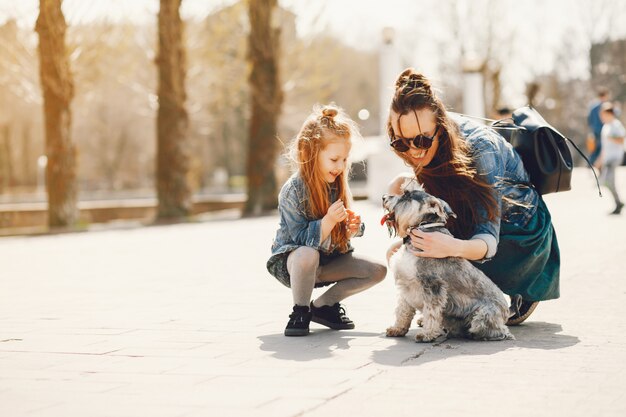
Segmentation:
{"type": "Polygon", "coordinates": [[[445,360],[462,355],[492,355],[510,348],[524,349],[563,349],[580,342],[576,336],[560,334],[560,324],[530,322],[511,327],[516,340],[502,342],[481,342],[466,339],[447,339],[437,343],[416,343],[413,332],[397,338],[396,344],[372,353],[376,363],[391,366],[417,366],[424,363],[445,360]]]}

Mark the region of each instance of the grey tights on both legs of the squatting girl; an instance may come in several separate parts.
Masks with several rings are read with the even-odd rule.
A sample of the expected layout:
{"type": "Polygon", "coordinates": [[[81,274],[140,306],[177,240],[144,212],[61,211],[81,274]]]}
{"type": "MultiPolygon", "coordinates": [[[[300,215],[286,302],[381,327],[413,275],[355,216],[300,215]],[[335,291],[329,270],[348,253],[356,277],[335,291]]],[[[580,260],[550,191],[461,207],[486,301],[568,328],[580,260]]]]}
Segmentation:
{"type": "Polygon", "coordinates": [[[315,300],[316,307],[333,305],[366,290],[387,274],[384,265],[354,256],[352,252],[320,265],[320,253],[308,246],[301,246],[289,254],[287,270],[291,277],[293,303],[300,306],[309,305],[316,283],[337,281],[315,300]]]}

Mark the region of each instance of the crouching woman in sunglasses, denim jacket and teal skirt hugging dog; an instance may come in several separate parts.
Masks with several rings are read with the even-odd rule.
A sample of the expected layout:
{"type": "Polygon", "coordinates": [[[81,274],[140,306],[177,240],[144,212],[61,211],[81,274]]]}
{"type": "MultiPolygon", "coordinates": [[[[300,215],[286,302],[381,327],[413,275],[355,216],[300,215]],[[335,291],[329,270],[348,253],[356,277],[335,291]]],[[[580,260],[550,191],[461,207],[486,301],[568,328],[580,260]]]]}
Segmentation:
{"type": "MultiPolygon", "coordinates": [[[[446,112],[414,69],[396,80],[387,130],[393,151],[425,191],[448,202],[454,237],[415,230],[416,256],[474,261],[511,297],[517,325],[539,301],[559,297],[560,255],[550,213],[530,185],[519,155],[492,129],[446,112]]],[[[401,194],[406,175],[390,185],[401,194]]],[[[400,246],[395,243],[391,256],[400,246]]]]}

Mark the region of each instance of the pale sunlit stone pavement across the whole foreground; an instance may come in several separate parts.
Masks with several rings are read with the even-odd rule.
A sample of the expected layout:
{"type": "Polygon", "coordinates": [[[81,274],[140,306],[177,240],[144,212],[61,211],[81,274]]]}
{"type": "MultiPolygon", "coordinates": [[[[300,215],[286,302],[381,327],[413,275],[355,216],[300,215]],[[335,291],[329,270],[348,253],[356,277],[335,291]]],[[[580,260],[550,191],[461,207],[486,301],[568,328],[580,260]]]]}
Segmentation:
{"type": "MultiPolygon", "coordinates": [[[[546,196],[562,297],[506,342],[386,338],[390,277],[346,300],[355,330],[284,337],[276,216],[0,239],[0,416],[624,416],[626,214],[574,188],[546,196]]],[[[380,208],[356,210],[382,260],[380,208]]]]}

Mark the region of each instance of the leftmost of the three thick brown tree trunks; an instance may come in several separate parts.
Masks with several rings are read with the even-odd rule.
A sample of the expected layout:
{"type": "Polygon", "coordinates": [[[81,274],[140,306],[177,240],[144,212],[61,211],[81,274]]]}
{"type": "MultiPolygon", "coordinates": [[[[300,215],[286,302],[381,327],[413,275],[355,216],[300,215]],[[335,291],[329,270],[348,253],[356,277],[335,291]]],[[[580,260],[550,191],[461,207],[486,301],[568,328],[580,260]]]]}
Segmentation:
{"type": "Polygon", "coordinates": [[[35,30],[39,34],[39,76],[45,118],[48,224],[72,226],[78,219],[76,146],[71,140],[70,104],[74,85],[65,50],[67,24],[62,0],[40,0],[35,30]]]}

